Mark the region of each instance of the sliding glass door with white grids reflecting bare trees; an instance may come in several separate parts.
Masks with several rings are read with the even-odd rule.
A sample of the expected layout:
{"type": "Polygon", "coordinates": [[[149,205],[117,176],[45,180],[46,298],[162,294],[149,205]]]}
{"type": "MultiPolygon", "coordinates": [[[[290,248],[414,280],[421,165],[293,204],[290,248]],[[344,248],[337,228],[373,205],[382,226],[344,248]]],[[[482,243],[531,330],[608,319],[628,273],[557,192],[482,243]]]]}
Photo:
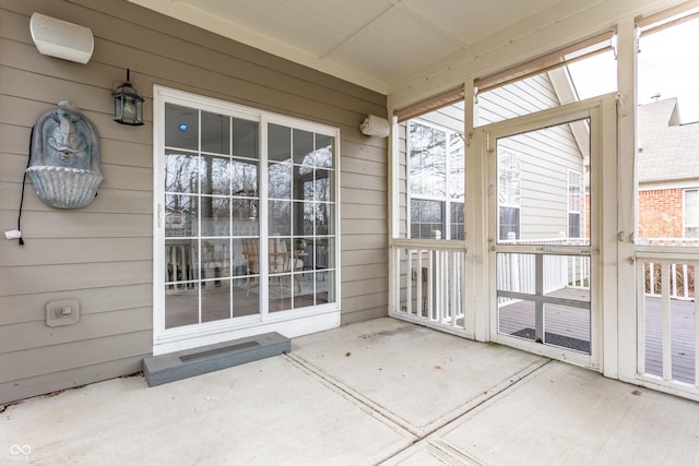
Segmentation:
{"type": "Polygon", "coordinates": [[[156,128],[156,339],[336,310],[337,131],[177,97],[156,128]]]}

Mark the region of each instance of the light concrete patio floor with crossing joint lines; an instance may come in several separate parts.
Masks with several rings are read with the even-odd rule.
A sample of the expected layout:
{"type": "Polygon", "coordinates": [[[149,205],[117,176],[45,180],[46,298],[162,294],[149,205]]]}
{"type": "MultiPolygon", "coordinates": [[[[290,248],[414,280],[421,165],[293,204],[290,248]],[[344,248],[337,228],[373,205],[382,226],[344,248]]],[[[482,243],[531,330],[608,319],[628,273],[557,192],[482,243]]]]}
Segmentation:
{"type": "Polygon", "coordinates": [[[0,413],[0,464],[699,464],[698,403],[392,319],[152,389],[121,378],[0,413]]]}

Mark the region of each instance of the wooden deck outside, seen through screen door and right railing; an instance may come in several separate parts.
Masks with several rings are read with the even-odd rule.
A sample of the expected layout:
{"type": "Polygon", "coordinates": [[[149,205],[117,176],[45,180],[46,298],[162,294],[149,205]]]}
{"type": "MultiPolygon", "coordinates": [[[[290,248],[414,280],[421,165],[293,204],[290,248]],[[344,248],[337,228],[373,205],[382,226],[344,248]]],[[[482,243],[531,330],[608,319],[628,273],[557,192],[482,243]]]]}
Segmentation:
{"type": "MultiPolygon", "coordinates": [[[[550,296],[589,300],[589,291],[567,288],[550,296]]],[[[695,383],[695,311],[694,302],[673,299],[672,373],[673,379],[695,383]]],[[[500,307],[498,332],[534,339],[534,302],[513,301],[500,307]]],[[[590,312],[585,309],[546,304],[544,307],[545,344],[590,353],[590,312]]],[[[662,377],[661,300],[645,298],[645,372],[662,377]]]]}

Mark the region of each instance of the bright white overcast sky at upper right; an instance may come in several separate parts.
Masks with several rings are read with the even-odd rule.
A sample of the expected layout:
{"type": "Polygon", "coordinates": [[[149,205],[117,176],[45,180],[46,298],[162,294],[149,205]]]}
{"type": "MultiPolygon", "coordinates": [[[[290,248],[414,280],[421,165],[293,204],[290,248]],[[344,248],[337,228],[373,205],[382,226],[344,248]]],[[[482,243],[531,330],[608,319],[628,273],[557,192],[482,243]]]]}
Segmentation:
{"type": "MultiPolygon", "coordinates": [[[[638,103],[677,97],[683,123],[699,121],[699,19],[641,37],[638,55],[638,103]]],[[[616,89],[612,52],[572,63],[580,98],[616,89]]]]}

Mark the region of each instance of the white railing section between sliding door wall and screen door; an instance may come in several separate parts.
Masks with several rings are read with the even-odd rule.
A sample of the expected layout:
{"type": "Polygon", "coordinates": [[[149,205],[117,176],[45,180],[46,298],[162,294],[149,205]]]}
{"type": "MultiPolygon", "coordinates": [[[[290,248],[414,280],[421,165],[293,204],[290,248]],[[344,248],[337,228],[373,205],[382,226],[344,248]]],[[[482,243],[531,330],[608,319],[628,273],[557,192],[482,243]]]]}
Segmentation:
{"type": "Polygon", "coordinates": [[[465,247],[461,241],[394,240],[394,316],[463,333],[465,247]]]}

